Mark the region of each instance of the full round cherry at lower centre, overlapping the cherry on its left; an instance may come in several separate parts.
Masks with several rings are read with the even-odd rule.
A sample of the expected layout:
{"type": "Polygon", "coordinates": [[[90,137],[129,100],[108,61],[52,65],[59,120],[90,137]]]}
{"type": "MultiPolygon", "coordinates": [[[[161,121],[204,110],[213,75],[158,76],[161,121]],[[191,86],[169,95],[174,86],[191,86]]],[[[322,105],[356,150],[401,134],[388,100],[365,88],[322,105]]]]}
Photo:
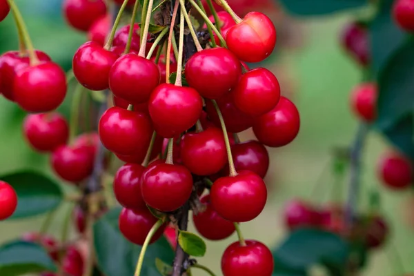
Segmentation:
{"type": "Polygon", "coordinates": [[[161,212],[172,212],[183,206],[193,190],[193,177],[181,165],[157,164],[141,178],[141,193],[146,204],[161,212]]]}

